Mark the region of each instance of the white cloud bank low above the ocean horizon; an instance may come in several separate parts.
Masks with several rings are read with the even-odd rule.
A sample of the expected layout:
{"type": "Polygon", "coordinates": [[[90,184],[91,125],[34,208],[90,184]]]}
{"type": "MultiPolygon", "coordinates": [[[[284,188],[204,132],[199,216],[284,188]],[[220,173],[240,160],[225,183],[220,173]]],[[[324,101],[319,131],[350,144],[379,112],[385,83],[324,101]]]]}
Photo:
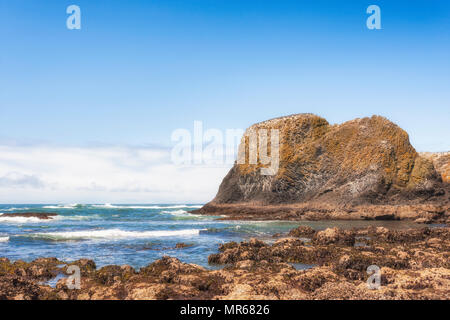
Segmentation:
{"type": "Polygon", "coordinates": [[[179,167],[162,148],[0,145],[0,203],[203,203],[229,168],[179,167]]]}

